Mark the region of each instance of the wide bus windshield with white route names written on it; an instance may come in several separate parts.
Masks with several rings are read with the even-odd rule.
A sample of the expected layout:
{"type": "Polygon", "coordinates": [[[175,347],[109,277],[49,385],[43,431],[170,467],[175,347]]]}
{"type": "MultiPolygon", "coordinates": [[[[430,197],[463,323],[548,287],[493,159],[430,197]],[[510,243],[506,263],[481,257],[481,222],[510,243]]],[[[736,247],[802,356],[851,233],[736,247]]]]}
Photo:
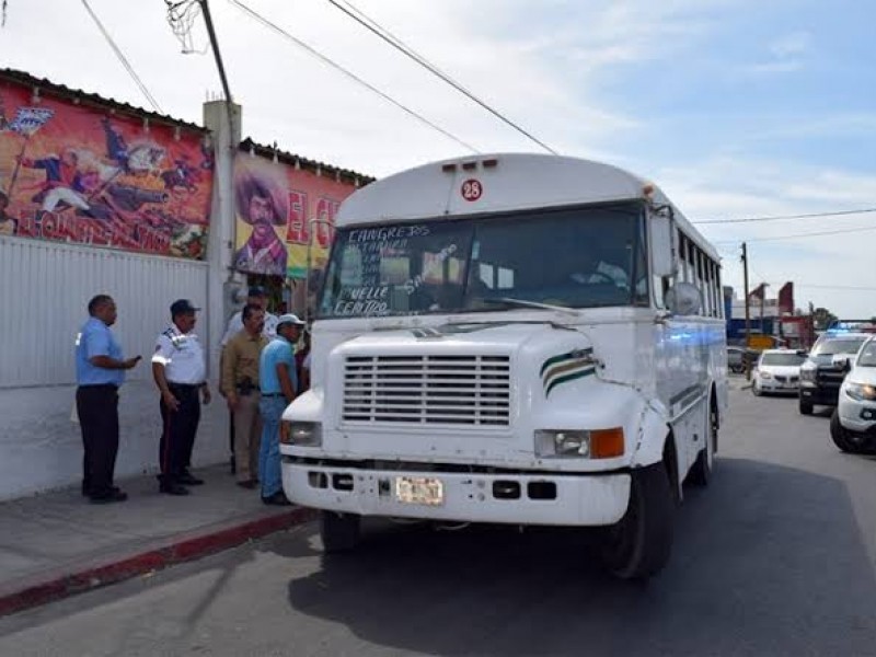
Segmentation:
{"type": "Polygon", "coordinates": [[[647,306],[638,201],[337,231],[320,318],[647,306]]]}

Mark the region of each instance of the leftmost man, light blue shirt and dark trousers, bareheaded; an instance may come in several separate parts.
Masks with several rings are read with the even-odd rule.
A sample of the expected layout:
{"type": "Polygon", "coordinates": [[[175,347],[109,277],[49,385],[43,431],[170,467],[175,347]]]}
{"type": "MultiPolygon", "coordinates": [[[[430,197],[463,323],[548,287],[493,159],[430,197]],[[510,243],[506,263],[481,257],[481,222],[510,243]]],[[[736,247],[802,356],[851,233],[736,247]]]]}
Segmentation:
{"type": "Polygon", "coordinates": [[[118,454],[118,388],[125,370],[140,357],[124,359],[110,326],[117,312],[113,298],[97,295],[89,301],[89,320],[76,339],[76,408],[82,430],[82,495],[95,504],[124,502],[113,485],[118,454]]]}

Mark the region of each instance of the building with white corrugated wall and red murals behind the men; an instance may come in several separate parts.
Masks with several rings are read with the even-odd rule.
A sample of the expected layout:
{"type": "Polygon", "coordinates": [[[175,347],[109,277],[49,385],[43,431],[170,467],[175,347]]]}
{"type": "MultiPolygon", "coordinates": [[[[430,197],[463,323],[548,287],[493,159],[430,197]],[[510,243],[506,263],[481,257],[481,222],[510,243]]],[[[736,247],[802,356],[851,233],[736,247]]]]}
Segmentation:
{"type": "MultiPolygon", "coordinates": [[[[276,306],[306,310],[308,253],[324,262],[337,205],[371,178],[241,143],[241,115],[209,102],[199,126],[0,69],[0,191],[13,219],[0,233],[0,499],[81,476],[73,342],[92,296],[115,298],[114,332],[147,364],[171,302],[192,299],[212,380],[247,285],[268,283],[276,306]],[[280,184],[254,212],[252,194],[241,209],[235,182],[256,169],[280,184]],[[251,240],[256,226],[280,244],[251,240]],[[261,266],[281,253],[284,267],[261,266]]],[[[154,470],[155,405],[141,364],[120,394],[118,476],[154,470]]],[[[222,405],[205,407],[196,465],[226,461],[227,433],[222,405]]]]}

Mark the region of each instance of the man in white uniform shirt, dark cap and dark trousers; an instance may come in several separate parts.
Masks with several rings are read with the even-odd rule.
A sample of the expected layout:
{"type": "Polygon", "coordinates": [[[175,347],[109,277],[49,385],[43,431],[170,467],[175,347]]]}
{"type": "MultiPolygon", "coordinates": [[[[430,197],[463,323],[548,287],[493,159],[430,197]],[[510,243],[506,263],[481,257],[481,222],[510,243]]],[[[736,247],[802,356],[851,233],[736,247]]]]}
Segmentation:
{"type": "Polygon", "coordinates": [[[200,422],[200,397],[210,403],[204,348],[194,333],[197,310],[188,299],[174,301],[171,324],[158,336],[152,354],[152,378],[161,392],[159,488],[169,495],[188,495],[186,486],[204,483],[188,471],[200,422]]]}

